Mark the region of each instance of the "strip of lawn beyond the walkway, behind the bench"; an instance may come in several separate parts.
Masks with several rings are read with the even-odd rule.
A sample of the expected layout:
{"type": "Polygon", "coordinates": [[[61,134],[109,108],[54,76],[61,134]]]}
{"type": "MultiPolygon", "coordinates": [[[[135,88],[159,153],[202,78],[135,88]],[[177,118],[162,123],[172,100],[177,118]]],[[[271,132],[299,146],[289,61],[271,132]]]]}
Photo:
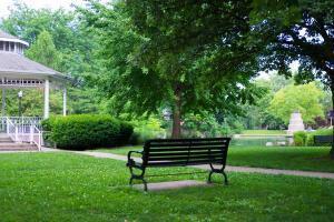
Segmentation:
{"type": "MultiPolygon", "coordinates": [[[[143,147],[124,147],[98,151],[127,154],[129,150],[143,150],[143,147]]],[[[334,172],[334,160],[330,158],[328,153],[330,148],[327,147],[230,147],[227,164],[334,172]]]]}

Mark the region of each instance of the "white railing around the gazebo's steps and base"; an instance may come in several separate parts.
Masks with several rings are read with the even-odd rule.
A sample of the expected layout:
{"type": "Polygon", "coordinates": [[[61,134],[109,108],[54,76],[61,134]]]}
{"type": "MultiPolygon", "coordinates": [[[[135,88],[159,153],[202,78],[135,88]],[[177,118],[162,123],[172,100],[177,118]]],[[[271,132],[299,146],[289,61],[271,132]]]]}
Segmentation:
{"type": "MultiPolygon", "coordinates": [[[[3,120],[1,120],[3,123],[3,120]]],[[[42,132],[39,129],[41,118],[6,118],[7,134],[14,142],[35,143],[41,150],[42,132]]]]}

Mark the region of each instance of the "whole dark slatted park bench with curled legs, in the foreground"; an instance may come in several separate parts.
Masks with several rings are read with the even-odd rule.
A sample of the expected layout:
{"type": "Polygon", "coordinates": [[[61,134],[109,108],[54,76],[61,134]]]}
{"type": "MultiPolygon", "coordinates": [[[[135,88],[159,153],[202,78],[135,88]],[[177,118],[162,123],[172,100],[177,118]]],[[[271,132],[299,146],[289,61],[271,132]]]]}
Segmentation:
{"type": "Polygon", "coordinates": [[[224,182],[227,184],[227,175],[224,172],[226,157],[230,138],[212,139],[159,139],[148,140],[144,144],[143,151],[129,151],[127,167],[130,170],[130,181],[141,180],[144,189],[147,191],[147,182],[144,179],[147,168],[167,168],[167,167],[187,167],[209,164],[210,171],[208,182],[212,182],[212,174],[219,173],[224,175],[224,182]],[[141,161],[136,162],[132,153],[141,154],[141,161]],[[217,169],[214,164],[222,165],[217,169]],[[138,169],[140,173],[135,173],[138,169]]]}

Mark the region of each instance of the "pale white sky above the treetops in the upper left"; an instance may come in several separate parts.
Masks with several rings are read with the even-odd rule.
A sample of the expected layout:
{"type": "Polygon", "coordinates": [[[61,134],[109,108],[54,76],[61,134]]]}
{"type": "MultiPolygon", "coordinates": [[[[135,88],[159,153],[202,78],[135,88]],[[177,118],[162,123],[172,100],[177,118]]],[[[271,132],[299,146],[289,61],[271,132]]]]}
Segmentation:
{"type": "MultiPolygon", "coordinates": [[[[16,0],[0,0],[0,18],[9,16],[9,7],[13,6],[16,0]]],[[[20,0],[24,2],[29,8],[40,9],[71,9],[71,4],[84,6],[84,0],[20,0]]]]}

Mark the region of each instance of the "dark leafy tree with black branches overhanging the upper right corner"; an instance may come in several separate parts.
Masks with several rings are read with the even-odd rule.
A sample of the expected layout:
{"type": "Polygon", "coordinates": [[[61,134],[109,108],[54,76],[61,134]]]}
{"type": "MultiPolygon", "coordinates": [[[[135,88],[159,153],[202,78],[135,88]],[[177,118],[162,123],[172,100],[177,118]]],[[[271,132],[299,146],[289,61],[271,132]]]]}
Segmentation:
{"type": "MultiPolygon", "coordinates": [[[[334,1],[254,0],[254,41],[262,41],[262,70],[291,77],[298,61],[299,83],[320,79],[332,91],[334,103],[334,1]]],[[[332,147],[334,157],[334,144],[332,147]]]]}

